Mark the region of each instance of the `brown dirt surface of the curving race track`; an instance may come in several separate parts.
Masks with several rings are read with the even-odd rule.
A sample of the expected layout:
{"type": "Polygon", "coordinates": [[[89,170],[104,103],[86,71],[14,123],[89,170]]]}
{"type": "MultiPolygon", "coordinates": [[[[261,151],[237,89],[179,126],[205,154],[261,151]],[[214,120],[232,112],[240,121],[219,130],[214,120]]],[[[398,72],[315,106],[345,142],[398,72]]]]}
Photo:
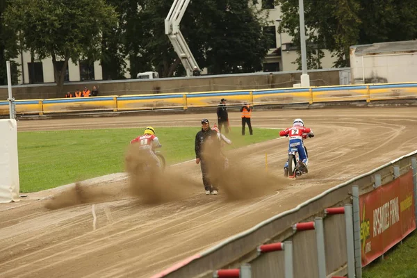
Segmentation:
{"type": "MultiPolygon", "coordinates": [[[[87,118],[82,127],[199,126],[202,117],[215,118],[213,114],[87,118]]],[[[231,113],[231,117],[231,125],[238,129],[239,115],[231,113]]],[[[416,149],[415,108],[254,111],[252,117],[253,126],[272,128],[286,127],[293,118],[302,117],[316,134],[306,140],[309,174],[277,184],[261,197],[234,202],[227,201],[221,190],[218,196],[204,195],[201,171],[194,161],[172,166],[193,183],[187,197],[166,204],[138,202],[126,193],[126,180],[98,181],[90,190],[111,195],[56,210],[45,208],[44,198],[62,189],[29,194],[21,202],[0,204],[1,277],[150,277],[416,149]]],[[[79,122],[27,120],[19,121],[18,129],[74,129],[79,122]]],[[[261,173],[268,153],[268,169],[279,176],[287,146],[286,139],[253,145],[242,151],[247,154],[242,161],[261,173]]]]}

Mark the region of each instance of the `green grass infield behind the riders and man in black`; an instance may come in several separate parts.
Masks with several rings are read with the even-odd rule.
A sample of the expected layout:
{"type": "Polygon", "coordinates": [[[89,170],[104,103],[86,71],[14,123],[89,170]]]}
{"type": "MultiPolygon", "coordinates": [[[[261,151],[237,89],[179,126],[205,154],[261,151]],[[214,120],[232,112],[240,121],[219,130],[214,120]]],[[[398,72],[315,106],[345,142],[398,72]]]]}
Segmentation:
{"type": "MultiPolygon", "coordinates": [[[[92,129],[72,131],[19,132],[20,191],[30,193],[67,183],[124,172],[124,154],[140,129],[92,129]]],[[[195,134],[199,127],[156,129],[167,165],[195,158],[195,134]]],[[[243,147],[279,137],[277,129],[254,129],[253,136],[241,136],[234,128],[227,137],[243,147]]]]}

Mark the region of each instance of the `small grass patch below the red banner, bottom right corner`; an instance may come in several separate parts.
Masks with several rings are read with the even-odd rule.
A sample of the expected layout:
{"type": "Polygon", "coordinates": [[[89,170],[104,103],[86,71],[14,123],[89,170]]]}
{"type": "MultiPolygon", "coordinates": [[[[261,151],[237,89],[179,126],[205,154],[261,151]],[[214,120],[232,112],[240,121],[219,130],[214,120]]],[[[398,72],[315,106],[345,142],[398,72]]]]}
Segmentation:
{"type": "Polygon", "coordinates": [[[384,261],[375,260],[363,268],[363,278],[416,278],[417,232],[412,232],[384,255],[384,261]]]}

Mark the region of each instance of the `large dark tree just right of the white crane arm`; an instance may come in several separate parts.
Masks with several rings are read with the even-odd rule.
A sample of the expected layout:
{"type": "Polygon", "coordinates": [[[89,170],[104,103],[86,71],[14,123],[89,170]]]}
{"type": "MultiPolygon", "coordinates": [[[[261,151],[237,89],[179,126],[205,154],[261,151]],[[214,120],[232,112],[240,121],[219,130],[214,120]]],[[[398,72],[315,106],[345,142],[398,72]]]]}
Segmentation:
{"type": "MultiPolygon", "coordinates": [[[[252,2],[252,1],[251,1],[252,2]]],[[[247,1],[215,0],[213,19],[208,23],[206,58],[209,72],[233,74],[262,70],[271,38],[262,32],[267,13],[247,1]]],[[[203,14],[206,11],[202,12],[203,14]]]]}

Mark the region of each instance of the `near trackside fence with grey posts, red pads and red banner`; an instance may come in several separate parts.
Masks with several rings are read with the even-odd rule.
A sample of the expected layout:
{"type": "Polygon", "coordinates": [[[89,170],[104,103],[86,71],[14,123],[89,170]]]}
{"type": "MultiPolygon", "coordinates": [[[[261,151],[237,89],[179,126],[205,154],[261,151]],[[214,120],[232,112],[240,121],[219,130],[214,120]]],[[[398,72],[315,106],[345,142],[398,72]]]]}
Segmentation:
{"type": "Polygon", "coordinates": [[[361,278],[416,229],[416,156],[330,188],[152,278],[361,278]]]}

